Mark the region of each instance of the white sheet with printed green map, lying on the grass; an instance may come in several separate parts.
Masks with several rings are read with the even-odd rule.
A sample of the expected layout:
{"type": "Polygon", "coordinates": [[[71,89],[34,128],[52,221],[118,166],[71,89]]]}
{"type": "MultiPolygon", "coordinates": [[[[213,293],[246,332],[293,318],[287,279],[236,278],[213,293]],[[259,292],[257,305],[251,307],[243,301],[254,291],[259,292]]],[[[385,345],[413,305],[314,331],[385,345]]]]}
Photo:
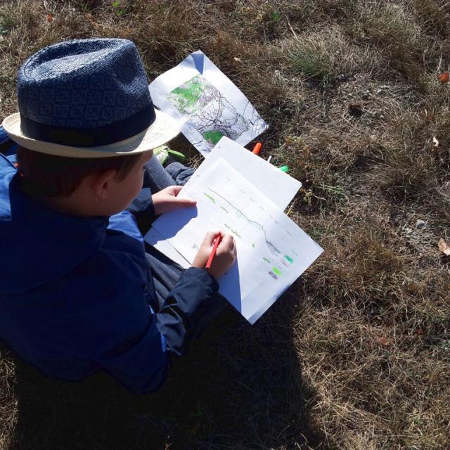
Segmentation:
{"type": "Polygon", "coordinates": [[[245,146],[267,128],[248,98],[200,50],[149,88],[153,103],[179,121],[183,134],[204,156],[221,136],[245,146]]]}

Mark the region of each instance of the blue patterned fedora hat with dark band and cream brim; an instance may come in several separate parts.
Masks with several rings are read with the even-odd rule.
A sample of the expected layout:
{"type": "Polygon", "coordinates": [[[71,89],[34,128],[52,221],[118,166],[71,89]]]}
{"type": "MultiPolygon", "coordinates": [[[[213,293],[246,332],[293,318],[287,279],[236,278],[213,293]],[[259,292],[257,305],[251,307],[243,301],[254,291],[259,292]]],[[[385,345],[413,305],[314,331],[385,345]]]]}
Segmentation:
{"type": "Polygon", "coordinates": [[[71,158],[142,153],[179,134],[155,110],[127,39],[75,39],[30,56],[18,74],[19,112],[3,127],[20,146],[71,158]]]}

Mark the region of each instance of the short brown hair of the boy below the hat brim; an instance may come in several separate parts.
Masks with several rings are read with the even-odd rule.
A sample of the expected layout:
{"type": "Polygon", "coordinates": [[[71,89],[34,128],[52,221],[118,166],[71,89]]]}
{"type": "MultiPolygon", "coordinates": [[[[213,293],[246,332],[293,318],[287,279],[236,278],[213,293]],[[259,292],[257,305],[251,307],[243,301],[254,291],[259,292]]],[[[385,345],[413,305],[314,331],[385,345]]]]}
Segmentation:
{"type": "Polygon", "coordinates": [[[22,190],[32,198],[68,197],[86,176],[117,169],[122,180],[142,153],[108,158],[67,158],[20,147],[17,151],[22,190]]]}

